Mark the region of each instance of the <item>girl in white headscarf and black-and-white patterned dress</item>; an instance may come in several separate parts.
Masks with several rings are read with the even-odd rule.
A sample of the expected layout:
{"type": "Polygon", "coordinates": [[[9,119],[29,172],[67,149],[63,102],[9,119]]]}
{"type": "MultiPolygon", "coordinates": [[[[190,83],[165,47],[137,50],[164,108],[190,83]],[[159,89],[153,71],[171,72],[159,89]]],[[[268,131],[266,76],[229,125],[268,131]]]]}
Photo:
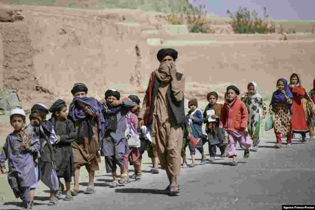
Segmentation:
{"type": "Polygon", "coordinates": [[[266,105],[261,98],[256,82],[250,82],[247,85],[247,90],[248,92],[245,93],[241,100],[245,103],[249,112],[248,132],[253,140],[253,151],[257,152],[260,142],[261,118],[265,118],[266,105]]]}

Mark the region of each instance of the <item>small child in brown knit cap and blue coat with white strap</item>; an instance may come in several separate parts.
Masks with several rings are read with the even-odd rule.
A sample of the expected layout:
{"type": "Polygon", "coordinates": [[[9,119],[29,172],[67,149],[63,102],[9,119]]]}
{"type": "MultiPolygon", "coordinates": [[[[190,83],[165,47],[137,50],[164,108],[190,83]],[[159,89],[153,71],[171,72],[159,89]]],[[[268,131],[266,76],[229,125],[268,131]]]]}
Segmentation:
{"type": "MultiPolygon", "coordinates": [[[[202,129],[201,129],[201,126],[203,123],[203,116],[202,116],[201,110],[197,109],[198,108],[197,99],[190,99],[188,101],[188,108],[190,109],[190,111],[187,114],[187,118],[192,128],[192,138],[200,138],[196,148],[201,153],[201,157],[202,157],[200,165],[204,165],[206,162],[206,159],[204,158],[204,151],[203,151],[203,144],[202,144],[202,129]]],[[[191,156],[192,156],[192,163],[189,165],[189,167],[196,166],[196,159],[195,159],[196,148],[193,148],[193,147],[190,148],[191,156]]]]}

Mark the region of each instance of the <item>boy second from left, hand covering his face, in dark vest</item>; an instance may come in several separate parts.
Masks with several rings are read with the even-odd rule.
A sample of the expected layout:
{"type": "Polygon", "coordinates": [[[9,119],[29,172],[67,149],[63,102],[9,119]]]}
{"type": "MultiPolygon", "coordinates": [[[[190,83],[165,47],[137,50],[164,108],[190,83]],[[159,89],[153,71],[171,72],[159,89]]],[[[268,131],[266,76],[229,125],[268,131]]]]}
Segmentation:
{"type": "Polygon", "coordinates": [[[60,137],[55,134],[54,126],[46,120],[49,113],[48,108],[43,104],[35,104],[31,108],[31,123],[27,129],[35,131],[39,137],[40,154],[37,154],[38,177],[50,189],[49,206],[56,206],[58,198],[55,197],[55,191],[59,188],[59,181],[56,174],[55,154],[53,145],[58,144],[60,137]]]}

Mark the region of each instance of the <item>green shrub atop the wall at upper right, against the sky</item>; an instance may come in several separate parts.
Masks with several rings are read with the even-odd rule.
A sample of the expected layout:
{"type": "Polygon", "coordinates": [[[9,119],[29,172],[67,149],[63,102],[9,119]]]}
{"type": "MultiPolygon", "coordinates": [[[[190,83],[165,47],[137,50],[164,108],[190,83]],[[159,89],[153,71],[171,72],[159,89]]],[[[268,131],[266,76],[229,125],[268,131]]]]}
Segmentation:
{"type": "Polygon", "coordinates": [[[264,19],[261,19],[255,10],[250,11],[247,8],[239,7],[235,14],[232,14],[230,10],[226,11],[231,19],[228,23],[237,34],[274,33],[276,31],[275,24],[268,20],[269,15],[266,12],[267,9],[265,7],[264,19]]]}

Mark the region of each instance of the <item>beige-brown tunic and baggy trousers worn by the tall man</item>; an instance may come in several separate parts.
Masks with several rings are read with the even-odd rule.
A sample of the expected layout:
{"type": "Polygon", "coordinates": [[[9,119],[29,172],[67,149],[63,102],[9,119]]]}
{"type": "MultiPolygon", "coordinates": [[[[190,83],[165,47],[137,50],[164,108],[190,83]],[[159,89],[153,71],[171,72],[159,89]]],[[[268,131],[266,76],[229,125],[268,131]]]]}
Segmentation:
{"type": "MultiPolygon", "coordinates": [[[[151,82],[151,81],[150,81],[151,82]]],[[[180,102],[184,99],[185,76],[180,81],[161,82],[157,96],[153,103],[153,124],[151,130],[153,156],[159,157],[161,167],[167,168],[169,175],[177,175],[180,172],[182,128],[175,122],[174,116],[168,111],[167,89],[171,85],[171,91],[175,99],[180,102]],[[154,154],[156,153],[156,154],[154,154]]],[[[143,119],[148,95],[145,95],[139,118],[143,119]]]]}

